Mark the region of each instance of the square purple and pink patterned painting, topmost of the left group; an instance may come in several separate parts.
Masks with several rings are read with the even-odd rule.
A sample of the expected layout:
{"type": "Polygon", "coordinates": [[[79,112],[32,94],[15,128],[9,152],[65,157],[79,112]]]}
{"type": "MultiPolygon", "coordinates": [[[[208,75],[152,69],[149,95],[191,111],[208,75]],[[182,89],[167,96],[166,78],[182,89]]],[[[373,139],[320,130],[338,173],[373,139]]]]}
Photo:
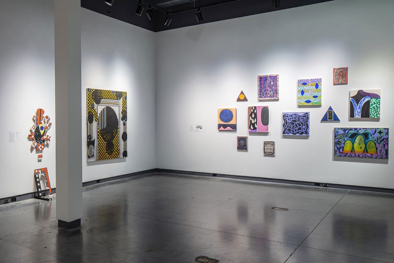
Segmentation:
{"type": "Polygon", "coordinates": [[[259,100],[279,99],[279,75],[261,75],[257,77],[259,100]]]}

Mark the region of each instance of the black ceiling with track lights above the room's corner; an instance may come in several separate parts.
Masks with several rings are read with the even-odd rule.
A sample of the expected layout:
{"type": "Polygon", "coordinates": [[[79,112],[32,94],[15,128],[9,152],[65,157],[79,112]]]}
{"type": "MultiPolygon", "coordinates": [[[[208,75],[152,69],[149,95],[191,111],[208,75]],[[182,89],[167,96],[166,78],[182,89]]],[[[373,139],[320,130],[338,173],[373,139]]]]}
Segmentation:
{"type": "Polygon", "coordinates": [[[331,0],[142,0],[144,9],[141,16],[136,14],[138,0],[112,1],[112,5],[108,5],[104,0],[81,0],[81,6],[144,29],[160,32],[331,0]],[[279,7],[274,8],[274,2],[279,2],[279,7]],[[149,4],[153,6],[152,20],[146,15],[149,4]],[[198,7],[201,7],[200,18],[202,17],[199,23],[196,17],[198,7]],[[169,26],[164,25],[166,13],[172,19],[169,26]]]}

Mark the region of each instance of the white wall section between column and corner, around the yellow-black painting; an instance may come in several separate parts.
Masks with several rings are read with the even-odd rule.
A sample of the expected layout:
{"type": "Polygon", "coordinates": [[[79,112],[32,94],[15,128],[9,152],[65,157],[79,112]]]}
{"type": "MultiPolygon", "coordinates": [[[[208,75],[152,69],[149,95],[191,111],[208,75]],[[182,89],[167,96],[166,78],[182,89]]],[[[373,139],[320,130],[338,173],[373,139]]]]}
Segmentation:
{"type": "Polygon", "coordinates": [[[81,15],[83,180],[156,168],[155,33],[85,8],[81,15]],[[87,163],[86,88],[127,92],[127,158],[87,163]]]}

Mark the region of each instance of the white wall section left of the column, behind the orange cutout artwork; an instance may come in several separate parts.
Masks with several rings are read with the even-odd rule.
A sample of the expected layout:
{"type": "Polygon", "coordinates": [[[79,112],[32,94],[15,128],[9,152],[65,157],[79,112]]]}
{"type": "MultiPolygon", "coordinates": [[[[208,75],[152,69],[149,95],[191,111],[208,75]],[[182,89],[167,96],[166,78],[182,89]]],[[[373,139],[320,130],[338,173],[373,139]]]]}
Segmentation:
{"type": "Polygon", "coordinates": [[[0,198],[34,191],[33,172],[47,167],[55,182],[55,61],[53,1],[1,0],[0,198]],[[37,162],[28,140],[37,108],[51,118],[49,148],[37,162]]]}

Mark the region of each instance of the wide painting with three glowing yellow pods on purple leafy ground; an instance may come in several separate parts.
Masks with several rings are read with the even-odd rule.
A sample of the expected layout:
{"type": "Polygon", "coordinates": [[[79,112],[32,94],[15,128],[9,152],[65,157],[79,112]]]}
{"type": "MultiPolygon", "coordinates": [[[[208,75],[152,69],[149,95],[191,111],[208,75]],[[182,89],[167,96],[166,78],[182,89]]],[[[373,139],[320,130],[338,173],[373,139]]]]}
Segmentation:
{"type": "Polygon", "coordinates": [[[335,128],[334,156],[389,159],[389,129],[335,128]]]}

